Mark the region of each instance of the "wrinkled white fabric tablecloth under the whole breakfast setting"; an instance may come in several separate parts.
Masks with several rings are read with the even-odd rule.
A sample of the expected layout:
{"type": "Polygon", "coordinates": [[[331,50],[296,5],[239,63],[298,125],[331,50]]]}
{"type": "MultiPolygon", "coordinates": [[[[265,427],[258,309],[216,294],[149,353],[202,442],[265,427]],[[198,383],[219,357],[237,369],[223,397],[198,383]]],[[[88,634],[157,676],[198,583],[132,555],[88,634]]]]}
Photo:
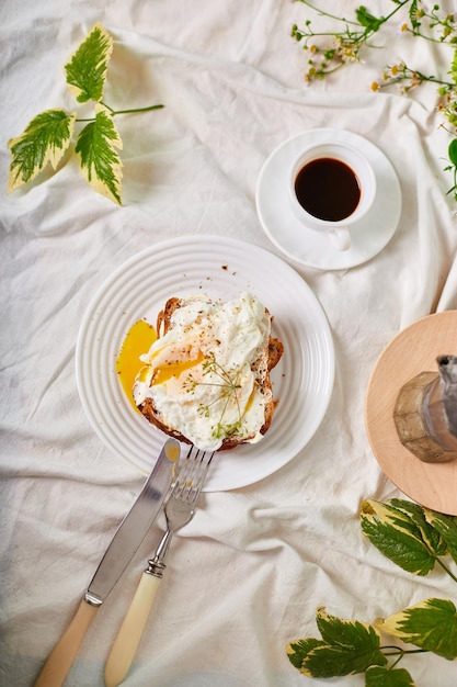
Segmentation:
{"type": "MultiPolygon", "coordinates": [[[[346,14],[355,7],[334,4],[346,14]]],[[[386,13],[390,5],[377,0],[369,9],[386,13]]],[[[443,52],[392,29],[364,64],[307,88],[308,56],[289,37],[306,13],[289,0],[1,3],[3,188],[8,139],[37,112],[73,109],[62,66],[96,22],[115,40],[106,101],[116,109],[165,105],[117,120],[123,207],[96,195],[75,160],[0,196],[1,685],[33,684],[144,480],[94,435],[78,396],[75,347],[89,300],[127,258],[170,237],[230,236],[279,255],[256,216],[258,176],[277,145],[315,127],[352,131],[384,150],[401,182],[398,230],[359,267],[295,266],[333,333],[328,413],[275,474],[203,496],[176,534],[124,684],[323,686],[285,653],[290,640],[318,637],[318,606],[372,622],[431,596],[455,598],[439,571],[419,578],[387,561],[358,522],[363,498],[402,496],[365,431],[373,367],[402,328],[457,307],[456,205],[444,172],[449,138],[434,111],[435,87],[407,99],[373,93],[369,85],[399,58],[433,72],[443,52]]],[[[107,652],[161,527],[159,520],[99,611],[67,687],[103,685],[107,652]]],[[[456,684],[455,664],[437,656],[403,664],[423,687],[456,684]]],[[[358,687],[364,678],[331,684],[358,687]]]]}

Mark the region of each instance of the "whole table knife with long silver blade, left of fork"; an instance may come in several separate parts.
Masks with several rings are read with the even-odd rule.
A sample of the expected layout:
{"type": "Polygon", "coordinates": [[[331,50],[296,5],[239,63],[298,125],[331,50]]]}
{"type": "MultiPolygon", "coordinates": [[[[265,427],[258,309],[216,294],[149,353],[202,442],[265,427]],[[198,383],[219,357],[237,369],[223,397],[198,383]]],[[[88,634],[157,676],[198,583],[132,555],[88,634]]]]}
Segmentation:
{"type": "Polygon", "coordinates": [[[138,498],[117,528],[66,632],[47,658],[35,687],[60,687],[81,642],[135,552],[145,539],[170,489],[181,448],[168,439],[138,498]]]}

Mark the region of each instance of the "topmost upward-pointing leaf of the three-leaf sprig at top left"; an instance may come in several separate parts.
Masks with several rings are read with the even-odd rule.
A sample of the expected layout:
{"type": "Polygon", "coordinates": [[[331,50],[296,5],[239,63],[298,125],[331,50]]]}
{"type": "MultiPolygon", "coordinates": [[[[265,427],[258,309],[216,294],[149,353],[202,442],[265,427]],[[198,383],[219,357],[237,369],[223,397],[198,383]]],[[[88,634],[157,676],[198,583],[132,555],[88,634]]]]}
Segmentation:
{"type": "Polygon", "coordinates": [[[78,102],[102,100],[112,52],[112,36],[101,24],[95,24],[65,65],[68,88],[78,102]]]}

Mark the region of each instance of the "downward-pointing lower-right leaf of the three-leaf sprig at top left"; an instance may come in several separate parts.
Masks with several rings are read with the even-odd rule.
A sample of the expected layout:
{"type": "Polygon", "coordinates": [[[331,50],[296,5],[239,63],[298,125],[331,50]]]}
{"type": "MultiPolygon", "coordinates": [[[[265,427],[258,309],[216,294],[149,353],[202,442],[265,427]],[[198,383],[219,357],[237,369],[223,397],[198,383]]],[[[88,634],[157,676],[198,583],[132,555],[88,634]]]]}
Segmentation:
{"type": "Polygon", "coordinates": [[[116,148],[122,148],[122,140],[113,117],[102,105],[95,105],[95,121],[79,134],[76,153],[84,179],[121,205],[122,161],[116,148]]]}

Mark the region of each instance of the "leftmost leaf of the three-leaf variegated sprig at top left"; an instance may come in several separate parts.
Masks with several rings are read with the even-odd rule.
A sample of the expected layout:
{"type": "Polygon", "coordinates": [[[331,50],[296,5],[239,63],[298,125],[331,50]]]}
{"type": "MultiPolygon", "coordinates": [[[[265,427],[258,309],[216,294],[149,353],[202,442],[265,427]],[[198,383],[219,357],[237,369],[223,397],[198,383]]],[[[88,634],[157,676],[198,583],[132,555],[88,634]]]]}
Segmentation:
{"type": "Polygon", "coordinates": [[[9,142],[12,156],[9,193],[35,179],[48,162],[57,168],[70,145],[75,120],[75,112],[46,110],[27,124],[21,136],[9,142]]]}

